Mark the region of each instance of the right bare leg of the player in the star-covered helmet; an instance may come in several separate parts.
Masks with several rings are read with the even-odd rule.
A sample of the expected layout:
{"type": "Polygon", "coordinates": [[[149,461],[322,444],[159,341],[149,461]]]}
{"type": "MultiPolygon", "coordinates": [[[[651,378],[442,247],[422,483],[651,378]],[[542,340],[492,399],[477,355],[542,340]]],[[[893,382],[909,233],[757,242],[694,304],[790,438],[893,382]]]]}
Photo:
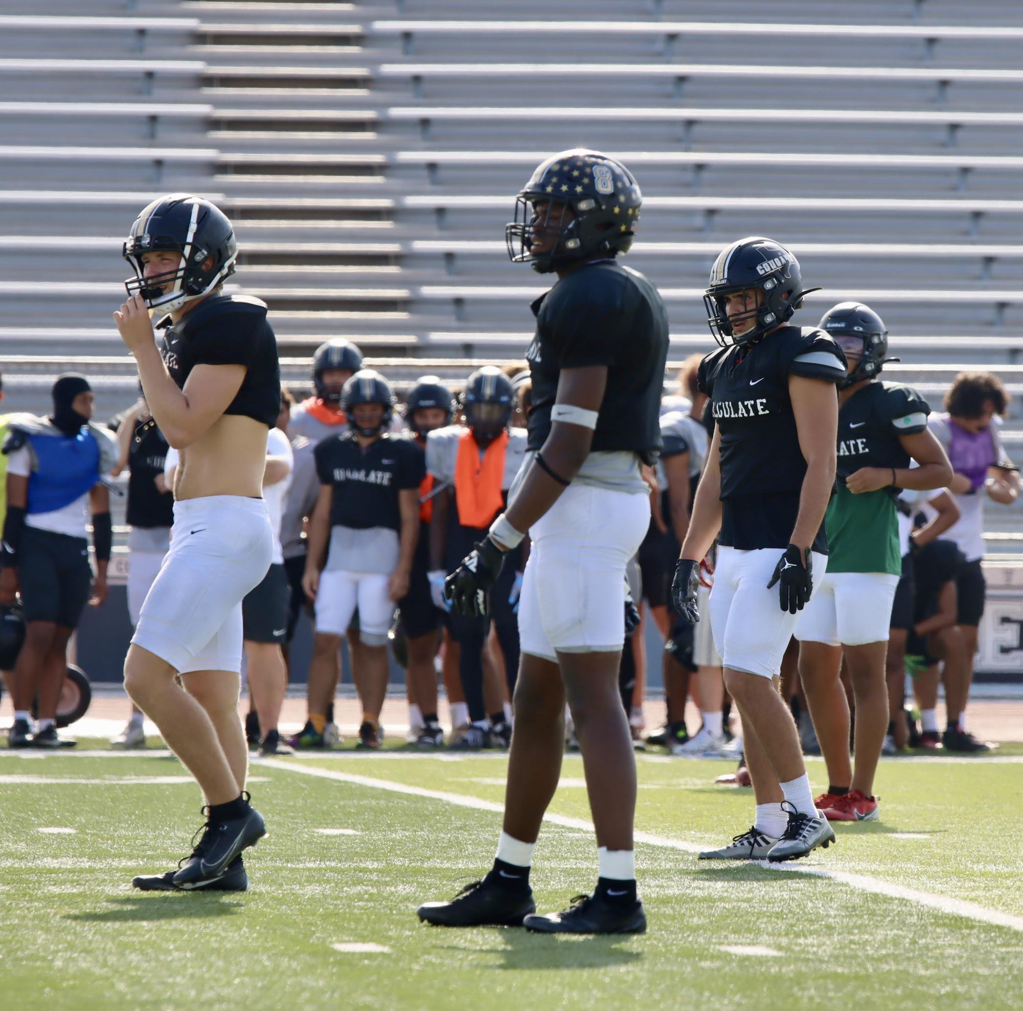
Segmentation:
{"type": "Polygon", "coordinates": [[[636,765],[618,692],[621,654],[559,653],[558,659],[582,752],[596,844],[631,850],[636,765]]]}

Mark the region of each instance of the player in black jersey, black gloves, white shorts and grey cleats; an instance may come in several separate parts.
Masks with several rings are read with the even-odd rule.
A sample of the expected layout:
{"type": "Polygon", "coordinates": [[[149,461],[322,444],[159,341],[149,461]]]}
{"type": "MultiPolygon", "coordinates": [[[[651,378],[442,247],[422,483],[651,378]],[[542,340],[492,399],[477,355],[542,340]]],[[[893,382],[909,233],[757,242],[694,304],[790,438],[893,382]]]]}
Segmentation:
{"type": "Polygon", "coordinates": [[[672,595],[681,616],[700,620],[700,562],[716,535],[707,610],[742,715],[757,806],[748,832],[702,859],[791,860],[835,839],[813,803],[779,691],[796,616],[828,562],[835,386],[846,375],[845,356],[827,334],[789,325],[805,294],[796,258],[772,239],[750,237],[721,252],[704,296],[721,347],[703,360],[698,382],[717,426],[672,595]]]}

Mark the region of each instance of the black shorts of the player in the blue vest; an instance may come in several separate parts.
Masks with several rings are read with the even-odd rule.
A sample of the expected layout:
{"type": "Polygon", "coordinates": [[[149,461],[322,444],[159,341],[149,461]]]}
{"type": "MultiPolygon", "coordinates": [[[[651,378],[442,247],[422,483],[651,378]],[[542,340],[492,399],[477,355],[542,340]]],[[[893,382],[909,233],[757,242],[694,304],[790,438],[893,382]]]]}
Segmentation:
{"type": "Polygon", "coordinates": [[[92,592],[89,542],[26,526],[18,547],[17,584],[26,621],[77,628],[92,592]]]}

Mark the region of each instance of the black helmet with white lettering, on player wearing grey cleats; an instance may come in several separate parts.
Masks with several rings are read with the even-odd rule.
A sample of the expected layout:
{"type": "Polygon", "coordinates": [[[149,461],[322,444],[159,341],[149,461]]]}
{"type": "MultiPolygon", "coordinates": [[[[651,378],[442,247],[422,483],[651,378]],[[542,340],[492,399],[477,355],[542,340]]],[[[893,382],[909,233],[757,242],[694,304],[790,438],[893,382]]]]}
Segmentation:
{"type": "Polygon", "coordinates": [[[803,296],[814,291],[802,289],[799,261],[784,246],[770,238],[742,238],[723,250],[711,267],[704,294],[707,324],[721,347],[749,346],[788,322],[803,296]],[[754,293],[753,308],[729,316],[729,298],[748,291],[754,293]],[[742,333],[737,333],[737,324],[742,333]]]}

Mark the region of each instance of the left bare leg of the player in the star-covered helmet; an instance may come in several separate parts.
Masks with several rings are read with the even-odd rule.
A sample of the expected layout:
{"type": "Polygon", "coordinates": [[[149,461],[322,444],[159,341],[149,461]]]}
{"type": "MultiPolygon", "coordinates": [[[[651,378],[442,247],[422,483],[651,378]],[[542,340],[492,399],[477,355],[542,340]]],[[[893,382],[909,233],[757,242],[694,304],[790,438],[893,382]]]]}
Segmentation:
{"type": "Polygon", "coordinates": [[[502,828],[513,839],[533,843],[565,754],[565,686],[557,663],[522,654],[515,714],[502,828]]]}

